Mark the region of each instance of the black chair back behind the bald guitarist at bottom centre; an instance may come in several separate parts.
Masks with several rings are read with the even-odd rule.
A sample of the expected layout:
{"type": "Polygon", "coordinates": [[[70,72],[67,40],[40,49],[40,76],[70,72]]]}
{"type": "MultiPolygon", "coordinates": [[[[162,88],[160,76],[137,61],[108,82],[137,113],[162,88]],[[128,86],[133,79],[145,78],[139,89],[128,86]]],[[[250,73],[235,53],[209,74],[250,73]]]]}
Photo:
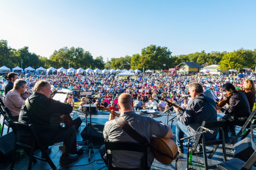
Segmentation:
{"type": "MultiPolygon", "coordinates": [[[[147,169],[147,145],[139,143],[130,143],[130,142],[105,142],[106,155],[108,162],[108,170],[119,170],[124,168],[118,168],[112,166],[112,154],[111,150],[120,150],[120,151],[135,151],[144,153],[141,158],[141,166],[136,169],[147,169]]],[[[134,169],[134,168],[133,168],[134,169]]]]}

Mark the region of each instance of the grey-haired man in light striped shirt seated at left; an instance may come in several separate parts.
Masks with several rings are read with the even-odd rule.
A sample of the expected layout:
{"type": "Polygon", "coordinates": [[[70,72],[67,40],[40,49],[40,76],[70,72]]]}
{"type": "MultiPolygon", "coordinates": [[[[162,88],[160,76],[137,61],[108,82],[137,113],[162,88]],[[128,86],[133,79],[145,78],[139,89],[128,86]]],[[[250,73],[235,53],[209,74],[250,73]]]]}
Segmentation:
{"type": "Polygon", "coordinates": [[[15,122],[18,121],[19,112],[24,104],[24,99],[21,94],[24,94],[26,88],[27,82],[25,80],[17,79],[14,82],[13,89],[5,96],[5,106],[10,110],[10,113],[13,116],[13,121],[15,122]]]}

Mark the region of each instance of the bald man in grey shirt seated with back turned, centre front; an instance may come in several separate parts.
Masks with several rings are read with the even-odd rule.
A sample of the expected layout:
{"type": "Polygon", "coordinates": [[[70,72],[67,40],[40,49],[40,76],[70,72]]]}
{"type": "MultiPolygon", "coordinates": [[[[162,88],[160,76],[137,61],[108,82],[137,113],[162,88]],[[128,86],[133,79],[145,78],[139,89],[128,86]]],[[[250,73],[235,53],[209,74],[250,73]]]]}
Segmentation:
{"type": "MultiPolygon", "coordinates": [[[[118,108],[120,117],[122,116],[138,133],[144,136],[148,142],[150,142],[152,135],[156,135],[160,138],[172,138],[173,133],[169,126],[159,123],[158,121],[147,117],[141,116],[134,112],[133,99],[130,94],[122,93],[118,97],[118,108]]],[[[115,121],[115,115],[111,111],[109,115],[109,121],[106,122],[103,130],[104,138],[110,142],[134,142],[134,139],[130,137],[115,121]]],[[[140,167],[141,153],[131,151],[112,151],[113,166],[121,168],[138,168],[140,167]]],[[[100,155],[104,159],[106,154],[105,145],[100,148],[100,155]]],[[[154,160],[153,154],[148,148],[147,155],[148,169],[154,160]]],[[[106,165],[107,161],[104,159],[106,165]]]]}

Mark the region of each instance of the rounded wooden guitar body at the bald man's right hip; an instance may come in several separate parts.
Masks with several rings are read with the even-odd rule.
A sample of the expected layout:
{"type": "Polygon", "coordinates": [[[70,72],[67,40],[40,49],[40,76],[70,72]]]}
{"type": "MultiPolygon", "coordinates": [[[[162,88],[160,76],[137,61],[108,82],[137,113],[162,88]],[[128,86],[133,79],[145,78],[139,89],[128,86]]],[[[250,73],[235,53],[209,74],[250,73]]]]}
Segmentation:
{"type": "Polygon", "coordinates": [[[158,150],[151,148],[155,159],[163,164],[170,164],[177,156],[177,145],[171,139],[152,137],[150,144],[158,150]]]}

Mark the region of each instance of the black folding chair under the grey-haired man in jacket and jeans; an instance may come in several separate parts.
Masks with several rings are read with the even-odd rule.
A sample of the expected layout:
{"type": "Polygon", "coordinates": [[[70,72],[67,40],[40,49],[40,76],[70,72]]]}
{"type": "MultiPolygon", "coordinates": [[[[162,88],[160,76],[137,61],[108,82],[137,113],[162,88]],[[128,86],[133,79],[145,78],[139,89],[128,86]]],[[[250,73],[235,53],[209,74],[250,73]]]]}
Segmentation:
{"type": "MultiPolygon", "coordinates": [[[[226,148],[225,148],[225,138],[224,138],[224,130],[227,128],[227,123],[226,121],[213,121],[213,122],[202,122],[201,124],[202,127],[206,127],[208,129],[212,129],[214,127],[221,127],[222,130],[222,140],[211,140],[211,141],[206,141],[206,138],[204,136],[204,133],[197,135],[195,144],[192,148],[192,154],[203,154],[203,159],[204,159],[204,166],[206,169],[209,168],[216,168],[216,165],[208,165],[207,161],[207,154],[210,153],[208,156],[209,159],[212,158],[216,150],[218,149],[219,145],[222,144],[222,152],[223,152],[223,161],[226,161],[226,148]],[[195,152],[196,147],[198,144],[202,145],[202,152],[195,152]],[[206,146],[213,146],[213,150],[207,151],[206,146]]],[[[199,132],[202,132],[203,129],[200,128],[199,132]]]]}

